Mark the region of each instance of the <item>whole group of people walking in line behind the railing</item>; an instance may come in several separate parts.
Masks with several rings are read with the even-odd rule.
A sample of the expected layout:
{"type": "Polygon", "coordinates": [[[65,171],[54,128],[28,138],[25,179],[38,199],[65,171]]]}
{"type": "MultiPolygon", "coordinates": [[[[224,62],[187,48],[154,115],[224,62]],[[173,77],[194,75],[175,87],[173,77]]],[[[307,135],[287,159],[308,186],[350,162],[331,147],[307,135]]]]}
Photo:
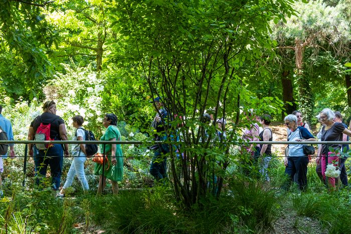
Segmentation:
{"type": "MultiPolygon", "coordinates": [[[[151,146],[153,157],[150,164],[150,174],[156,181],[164,182],[167,178],[166,155],[169,153],[169,144],[164,142],[167,139],[165,134],[166,121],[169,118],[167,110],[164,108],[163,101],[160,97],[152,100],[156,115],[151,123],[154,128],[154,140],[163,143],[156,143],[151,146]]],[[[63,167],[63,156],[73,156],[72,164],[67,173],[66,181],[58,193],[59,196],[64,196],[65,191],[72,185],[74,176],[79,179],[83,191],[89,190],[89,184],[84,173],[84,162],[87,160],[86,145],[74,144],[70,152],[68,144],[61,144],[60,140],[68,140],[66,125],[64,120],[56,115],[56,103],[47,101],[43,104],[43,113],[36,117],[30,124],[28,132],[28,140],[35,140],[38,128],[44,125],[49,126],[50,140],[55,141],[50,145],[45,144],[29,144],[29,154],[34,157],[36,184],[40,187],[47,174],[48,166],[50,167],[52,177],[52,188],[58,190],[61,185],[61,175],[63,167]]],[[[0,106],[0,127],[8,134],[9,140],[14,140],[11,122],[1,115],[2,106],[0,106]]],[[[246,141],[264,141],[269,142],[273,139],[273,133],[270,128],[271,116],[262,115],[254,116],[250,110],[244,113],[247,120],[251,122],[254,118],[256,122],[251,123],[246,129],[243,129],[243,139],[246,141]]],[[[321,129],[317,134],[317,139],[320,141],[346,141],[351,136],[351,131],[347,129],[347,125],[342,123],[340,112],[333,112],[328,108],[323,109],[316,118],[321,123],[321,129]]],[[[204,123],[213,121],[213,115],[205,114],[202,118],[204,123]]],[[[84,141],[87,131],[82,127],[84,118],[76,115],[72,118],[72,125],[76,129],[73,140],[84,141]]],[[[216,120],[217,129],[216,141],[223,141],[225,135],[225,119],[216,120]]],[[[287,141],[315,141],[315,137],[311,134],[309,125],[302,121],[300,111],[294,111],[292,114],[284,118],[284,124],[287,127],[287,141]]],[[[100,138],[102,141],[119,141],[121,134],[117,128],[117,116],[109,113],[105,114],[103,123],[105,133],[100,138]]],[[[169,137],[169,136],[168,136],[169,137]]],[[[205,137],[207,137],[205,133],[205,137]]],[[[241,152],[250,155],[250,164],[258,165],[259,172],[263,180],[270,181],[268,176],[268,166],[272,158],[271,144],[251,144],[243,145],[241,152]]],[[[342,148],[348,150],[348,145],[340,144],[321,144],[318,145],[317,151],[317,167],[316,173],[319,178],[327,185],[335,187],[337,181],[334,177],[328,177],[325,174],[326,166],[334,164],[340,168],[340,181],[344,186],[348,185],[348,178],[345,169],[345,158],[340,157],[338,150],[342,148]]],[[[289,144],[285,150],[285,174],[288,180],[282,185],[282,188],[289,189],[292,182],[298,184],[298,188],[305,190],[307,187],[307,164],[309,163],[309,151],[306,151],[304,144],[289,144]]],[[[111,181],[113,193],[118,193],[118,181],[123,178],[123,154],[120,144],[100,144],[99,153],[104,153],[107,156],[108,166],[96,163],[94,174],[99,176],[97,193],[101,194],[106,185],[106,178],[111,181]]],[[[14,144],[10,144],[10,156],[15,157],[14,144]]],[[[4,171],[3,157],[0,157],[0,172],[4,171]]],[[[1,177],[0,177],[1,187],[1,177]]],[[[0,196],[3,195],[0,189],[0,196]]]]}

